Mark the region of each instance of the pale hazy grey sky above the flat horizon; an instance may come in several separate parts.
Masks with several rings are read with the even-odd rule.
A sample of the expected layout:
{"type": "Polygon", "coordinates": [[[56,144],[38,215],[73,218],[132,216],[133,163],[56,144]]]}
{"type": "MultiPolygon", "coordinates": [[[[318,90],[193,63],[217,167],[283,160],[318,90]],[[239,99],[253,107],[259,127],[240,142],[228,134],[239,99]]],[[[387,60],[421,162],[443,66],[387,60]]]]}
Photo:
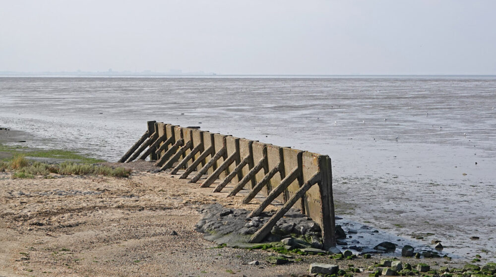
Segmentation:
{"type": "Polygon", "coordinates": [[[0,0],[0,71],[496,74],[495,0],[0,0]]]}

